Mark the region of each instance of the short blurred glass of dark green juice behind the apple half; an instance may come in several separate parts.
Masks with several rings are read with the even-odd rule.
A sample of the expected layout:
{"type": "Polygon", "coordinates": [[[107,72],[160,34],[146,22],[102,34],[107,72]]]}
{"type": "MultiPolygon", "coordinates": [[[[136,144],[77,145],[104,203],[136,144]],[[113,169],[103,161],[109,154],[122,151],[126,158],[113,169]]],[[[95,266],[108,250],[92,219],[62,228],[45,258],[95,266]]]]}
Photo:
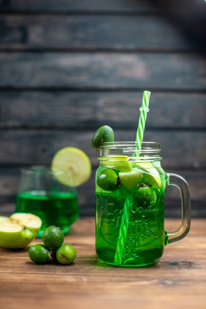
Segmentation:
{"type": "MultiPolygon", "coordinates": [[[[65,171],[58,173],[63,174],[65,171]]],[[[69,177],[72,179],[72,170],[69,177]]],[[[42,226],[38,237],[51,225],[60,227],[64,233],[68,232],[79,216],[75,187],[65,186],[57,178],[57,172],[54,173],[44,165],[21,170],[16,212],[33,213],[41,218],[42,226]]]]}

